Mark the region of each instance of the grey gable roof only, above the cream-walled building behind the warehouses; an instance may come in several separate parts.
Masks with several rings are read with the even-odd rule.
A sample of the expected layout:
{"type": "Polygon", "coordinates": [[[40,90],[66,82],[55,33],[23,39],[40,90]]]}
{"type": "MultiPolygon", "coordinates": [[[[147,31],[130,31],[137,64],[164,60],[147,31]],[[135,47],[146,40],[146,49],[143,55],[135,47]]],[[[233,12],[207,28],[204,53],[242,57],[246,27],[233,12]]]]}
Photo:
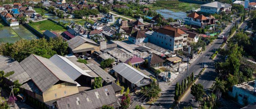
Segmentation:
{"type": "Polygon", "coordinates": [[[96,42],[94,42],[93,40],[90,40],[89,38],[85,38],[82,36],[75,36],[74,38],[71,38],[70,40],[67,41],[68,46],[71,49],[75,49],[76,47],[78,47],[86,42],[99,45],[96,42]]]}

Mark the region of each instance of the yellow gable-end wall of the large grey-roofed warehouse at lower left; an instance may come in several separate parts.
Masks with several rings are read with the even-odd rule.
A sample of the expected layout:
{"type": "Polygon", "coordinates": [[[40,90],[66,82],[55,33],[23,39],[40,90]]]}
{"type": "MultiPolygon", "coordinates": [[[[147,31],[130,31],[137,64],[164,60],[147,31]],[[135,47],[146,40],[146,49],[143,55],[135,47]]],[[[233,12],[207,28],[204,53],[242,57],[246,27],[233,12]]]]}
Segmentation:
{"type": "Polygon", "coordinates": [[[78,88],[76,84],[64,82],[60,84],[53,85],[47,91],[43,92],[43,102],[48,102],[50,100],[62,98],[72,94],[78,93],[78,88]],[[65,92],[66,91],[66,95],[65,92]],[[57,97],[55,97],[57,94],[57,97]]]}

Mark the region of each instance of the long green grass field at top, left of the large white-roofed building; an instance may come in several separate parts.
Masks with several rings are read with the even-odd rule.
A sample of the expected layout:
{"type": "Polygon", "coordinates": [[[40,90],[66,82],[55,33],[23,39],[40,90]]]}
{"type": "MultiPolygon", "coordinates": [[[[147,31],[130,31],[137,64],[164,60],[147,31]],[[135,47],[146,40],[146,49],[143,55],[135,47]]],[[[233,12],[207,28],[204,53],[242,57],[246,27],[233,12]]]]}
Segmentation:
{"type": "Polygon", "coordinates": [[[182,11],[186,12],[191,10],[193,7],[195,9],[200,8],[200,4],[194,4],[194,3],[185,3],[180,2],[176,0],[159,0],[155,1],[156,3],[148,5],[151,10],[158,10],[158,9],[167,9],[174,12],[182,11]],[[190,6],[191,5],[191,6],[190,6]]]}

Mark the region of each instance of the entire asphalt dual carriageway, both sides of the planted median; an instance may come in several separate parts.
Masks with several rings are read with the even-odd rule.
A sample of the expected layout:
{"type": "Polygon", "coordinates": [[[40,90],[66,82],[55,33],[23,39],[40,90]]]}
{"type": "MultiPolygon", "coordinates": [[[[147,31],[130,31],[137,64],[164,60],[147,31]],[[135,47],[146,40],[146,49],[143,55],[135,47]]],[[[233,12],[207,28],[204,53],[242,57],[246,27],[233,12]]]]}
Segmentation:
{"type": "MultiPolygon", "coordinates": [[[[228,34],[232,26],[234,25],[232,24],[228,25],[228,27],[226,27],[226,29],[223,31],[222,34],[228,34]]],[[[214,62],[213,60],[210,59],[211,55],[214,53],[212,49],[219,48],[222,43],[223,43],[223,39],[216,39],[211,45],[208,45],[206,47],[206,50],[203,51],[202,54],[188,67],[188,75],[194,72],[194,76],[197,76],[202,69],[202,62],[204,62],[204,64],[207,64],[209,66],[205,71],[204,75],[200,77],[200,82],[202,82],[203,85],[207,88],[211,87],[211,84],[213,83],[213,80],[216,77],[215,70],[214,70],[214,62]],[[210,56],[207,56],[209,54],[210,56]]],[[[174,81],[172,81],[169,85],[166,85],[165,82],[160,82],[160,88],[162,89],[162,92],[161,92],[161,96],[155,102],[155,105],[157,105],[157,107],[155,105],[146,104],[146,105],[150,105],[149,109],[169,109],[171,104],[174,102],[175,84],[176,82],[179,82],[181,84],[181,81],[184,80],[184,78],[186,77],[186,72],[187,71],[180,73],[180,75],[174,81]],[[159,106],[159,103],[161,103],[161,107],[159,106]]],[[[184,99],[185,102],[180,105],[181,107],[184,107],[190,104],[191,99],[189,94],[187,95],[188,97],[184,99]]]]}

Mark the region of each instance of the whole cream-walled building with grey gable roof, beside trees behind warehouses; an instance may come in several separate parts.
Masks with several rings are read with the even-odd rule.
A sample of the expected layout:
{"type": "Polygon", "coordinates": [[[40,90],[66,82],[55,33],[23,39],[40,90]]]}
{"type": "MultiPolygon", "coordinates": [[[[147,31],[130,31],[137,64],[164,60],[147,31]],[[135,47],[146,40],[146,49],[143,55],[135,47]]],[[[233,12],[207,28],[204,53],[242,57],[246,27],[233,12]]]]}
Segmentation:
{"type": "Polygon", "coordinates": [[[74,54],[76,57],[91,54],[95,50],[100,50],[100,45],[96,42],[82,36],[75,36],[74,38],[67,41],[68,51],[74,54]]]}

